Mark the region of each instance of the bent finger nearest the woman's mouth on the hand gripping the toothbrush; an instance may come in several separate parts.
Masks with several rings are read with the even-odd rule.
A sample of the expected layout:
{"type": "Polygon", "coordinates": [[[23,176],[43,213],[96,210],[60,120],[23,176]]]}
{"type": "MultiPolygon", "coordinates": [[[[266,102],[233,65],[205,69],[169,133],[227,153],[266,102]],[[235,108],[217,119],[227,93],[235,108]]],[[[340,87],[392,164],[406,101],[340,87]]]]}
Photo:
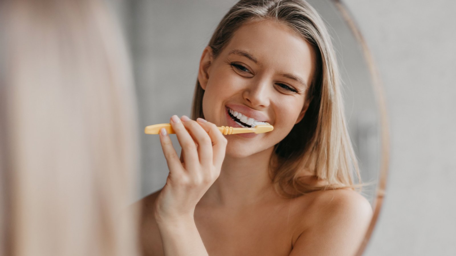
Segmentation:
{"type": "Polygon", "coordinates": [[[215,124],[209,123],[202,118],[198,118],[197,122],[211,138],[213,152],[212,164],[220,168],[222,166],[223,159],[225,158],[227,139],[223,136],[220,130],[218,130],[218,127],[215,124]]]}

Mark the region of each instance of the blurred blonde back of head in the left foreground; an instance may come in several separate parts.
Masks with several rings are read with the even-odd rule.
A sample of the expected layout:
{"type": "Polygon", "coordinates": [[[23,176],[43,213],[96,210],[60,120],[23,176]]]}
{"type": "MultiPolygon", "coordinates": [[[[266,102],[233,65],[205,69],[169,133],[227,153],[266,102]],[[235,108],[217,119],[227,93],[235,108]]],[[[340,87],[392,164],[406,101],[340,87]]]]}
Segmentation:
{"type": "Polygon", "coordinates": [[[136,111],[103,0],[0,0],[0,254],[136,254],[136,111]]]}

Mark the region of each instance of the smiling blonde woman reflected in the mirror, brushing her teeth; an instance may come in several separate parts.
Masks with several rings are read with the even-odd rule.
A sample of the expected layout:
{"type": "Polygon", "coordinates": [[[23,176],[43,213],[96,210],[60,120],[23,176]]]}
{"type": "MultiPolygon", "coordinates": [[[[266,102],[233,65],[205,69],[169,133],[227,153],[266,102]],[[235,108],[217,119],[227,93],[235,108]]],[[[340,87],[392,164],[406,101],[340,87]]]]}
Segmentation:
{"type": "MultiPolygon", "coordinates": [[[[330,36],[301,0],[241,0],[202,53],[170,173],[142,200],[145,255],[353,255],[372,209],[352,170],[330,36]],[[243,117],[244,116],[244,117],[243,117]],[[222,135],[216,126],[274,130],[222,135]]],[[[358,179],[359,180],[359,179],[358,179]]]]}

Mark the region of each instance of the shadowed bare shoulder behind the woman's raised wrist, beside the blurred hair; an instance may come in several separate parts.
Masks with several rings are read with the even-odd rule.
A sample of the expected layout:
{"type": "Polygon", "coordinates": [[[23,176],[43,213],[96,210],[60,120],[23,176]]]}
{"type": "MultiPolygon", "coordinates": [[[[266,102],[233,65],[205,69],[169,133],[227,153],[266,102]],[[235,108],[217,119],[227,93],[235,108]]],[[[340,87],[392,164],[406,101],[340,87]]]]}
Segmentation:
{"type": "Polygon", "coordinates": [[[154,205],[158,190],[135,203],[140,210],[140,248],[144,256],[161,256],[163,249],[161,244],[160,232],[154,217],[154,205]]]}

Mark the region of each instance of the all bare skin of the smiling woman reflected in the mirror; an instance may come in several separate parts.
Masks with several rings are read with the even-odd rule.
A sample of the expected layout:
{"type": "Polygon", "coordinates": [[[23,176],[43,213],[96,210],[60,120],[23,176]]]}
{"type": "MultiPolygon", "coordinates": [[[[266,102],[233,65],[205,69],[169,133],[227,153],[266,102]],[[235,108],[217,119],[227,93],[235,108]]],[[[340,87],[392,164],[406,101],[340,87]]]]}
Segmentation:
{"type": "Polygon", "coordinates": [[[241,26],[217,58],[210,47],[205,49],[198,79],[205,90],[207,122],[171,120],[183,148],[181,160],[169,137],[160,136],[170,174],[162,190],[140,201],[144,255],[356,252],[372,215],[363,196],[339,189],[285,199],[275,193],[268,176],[274,145],[306,113],[314,60],[309,43],[269,20],[241,26]],[[274,131],[223,137],[214,128],[233,126],[227,106],[247,107],[246,112],[264,118],[259,121],[274,125],[274,131]]]}

